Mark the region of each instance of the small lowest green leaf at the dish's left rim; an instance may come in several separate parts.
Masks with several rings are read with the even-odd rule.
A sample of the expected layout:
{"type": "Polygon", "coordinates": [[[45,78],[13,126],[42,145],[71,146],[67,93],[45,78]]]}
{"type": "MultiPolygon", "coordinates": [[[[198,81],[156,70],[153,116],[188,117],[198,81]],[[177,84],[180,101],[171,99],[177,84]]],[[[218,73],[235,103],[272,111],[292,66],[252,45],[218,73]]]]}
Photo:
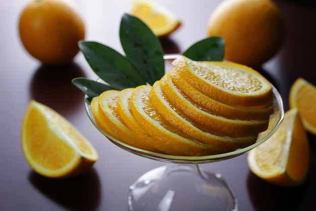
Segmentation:
{"type": "Polygon", "coordinates": [[[103,84],[82,77],[74,78],[71,82],[88,96],[87,99],[89,102],[91,102],[93,97],[100,95],[103,91],[113,89],[107,84],[103,84]]]}

